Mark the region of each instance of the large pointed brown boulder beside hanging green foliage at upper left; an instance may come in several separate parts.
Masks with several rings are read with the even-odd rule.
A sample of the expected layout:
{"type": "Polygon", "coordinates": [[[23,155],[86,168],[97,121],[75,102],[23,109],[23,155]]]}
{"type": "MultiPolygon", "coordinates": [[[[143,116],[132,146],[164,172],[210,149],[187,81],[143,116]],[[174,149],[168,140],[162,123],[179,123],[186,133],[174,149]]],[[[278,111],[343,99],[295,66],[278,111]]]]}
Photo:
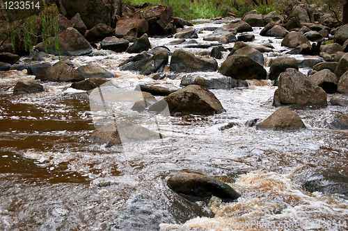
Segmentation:
{"type": "Polygon", "coordinates": [[[68,28],[58,35],[60,52],[56,51],[55,38],[51,37],[47,43],[40,42],[37,45],[39,51],[47,51],[54,55],[88,55],[93,51],[92,46],[75,28],[68,28]]]}

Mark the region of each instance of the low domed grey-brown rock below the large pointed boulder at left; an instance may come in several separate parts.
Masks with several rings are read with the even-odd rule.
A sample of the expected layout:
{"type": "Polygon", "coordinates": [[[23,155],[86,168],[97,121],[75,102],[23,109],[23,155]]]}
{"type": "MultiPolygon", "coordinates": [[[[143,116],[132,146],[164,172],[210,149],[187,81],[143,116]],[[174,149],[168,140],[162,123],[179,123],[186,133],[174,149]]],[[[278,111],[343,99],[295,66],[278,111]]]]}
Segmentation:
{"type": "Polygon", "coordinates": [[[61,63],[60,65],[49,67],[45,71],[40,72],[35,79],[54,82],[79,82],[84,80],[84,76],[76,69],[65,63],[61,63]]]}

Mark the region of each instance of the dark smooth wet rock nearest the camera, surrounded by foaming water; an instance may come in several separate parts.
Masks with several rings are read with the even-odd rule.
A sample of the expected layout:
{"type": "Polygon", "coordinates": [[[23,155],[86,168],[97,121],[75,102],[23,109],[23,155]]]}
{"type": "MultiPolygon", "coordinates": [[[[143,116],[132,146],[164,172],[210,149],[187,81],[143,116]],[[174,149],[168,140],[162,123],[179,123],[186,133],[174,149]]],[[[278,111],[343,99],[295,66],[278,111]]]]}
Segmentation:
{"type": "Polygon", "coordinates": [[[196,173],[178,173],[171,176],[168,186],[189,200],[209,200],[212,196],[217,196],[223,202],[231,202],[240,196],[225,182],[196,173]]]}

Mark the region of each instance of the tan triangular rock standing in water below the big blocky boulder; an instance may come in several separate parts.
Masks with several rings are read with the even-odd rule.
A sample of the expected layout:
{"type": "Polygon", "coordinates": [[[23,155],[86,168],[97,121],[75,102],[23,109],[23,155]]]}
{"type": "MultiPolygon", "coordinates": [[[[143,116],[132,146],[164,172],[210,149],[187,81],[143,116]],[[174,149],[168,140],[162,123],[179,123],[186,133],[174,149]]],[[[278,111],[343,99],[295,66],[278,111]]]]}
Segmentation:
{"type": "Polygon", "coordinates": [[[267,119],[262,121],[258,129],[273,129],[273,130],[296,130],[306,128],[301,117],[296,112],[287,107],[279,108],[271,114],[267,119]]]}

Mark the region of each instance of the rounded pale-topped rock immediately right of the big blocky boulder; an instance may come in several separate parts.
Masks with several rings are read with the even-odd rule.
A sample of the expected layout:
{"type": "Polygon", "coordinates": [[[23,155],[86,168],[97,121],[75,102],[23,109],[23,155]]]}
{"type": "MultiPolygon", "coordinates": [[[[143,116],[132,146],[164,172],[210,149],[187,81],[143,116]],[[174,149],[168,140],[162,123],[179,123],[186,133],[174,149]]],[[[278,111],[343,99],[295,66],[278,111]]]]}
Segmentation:
{"type": "Polygon", "coordinates": [[[338,78],[329,69],[317,71],[317,73],[309,77],[309,80],[322,87],[327,94],[337,92],[338,78]]]}

